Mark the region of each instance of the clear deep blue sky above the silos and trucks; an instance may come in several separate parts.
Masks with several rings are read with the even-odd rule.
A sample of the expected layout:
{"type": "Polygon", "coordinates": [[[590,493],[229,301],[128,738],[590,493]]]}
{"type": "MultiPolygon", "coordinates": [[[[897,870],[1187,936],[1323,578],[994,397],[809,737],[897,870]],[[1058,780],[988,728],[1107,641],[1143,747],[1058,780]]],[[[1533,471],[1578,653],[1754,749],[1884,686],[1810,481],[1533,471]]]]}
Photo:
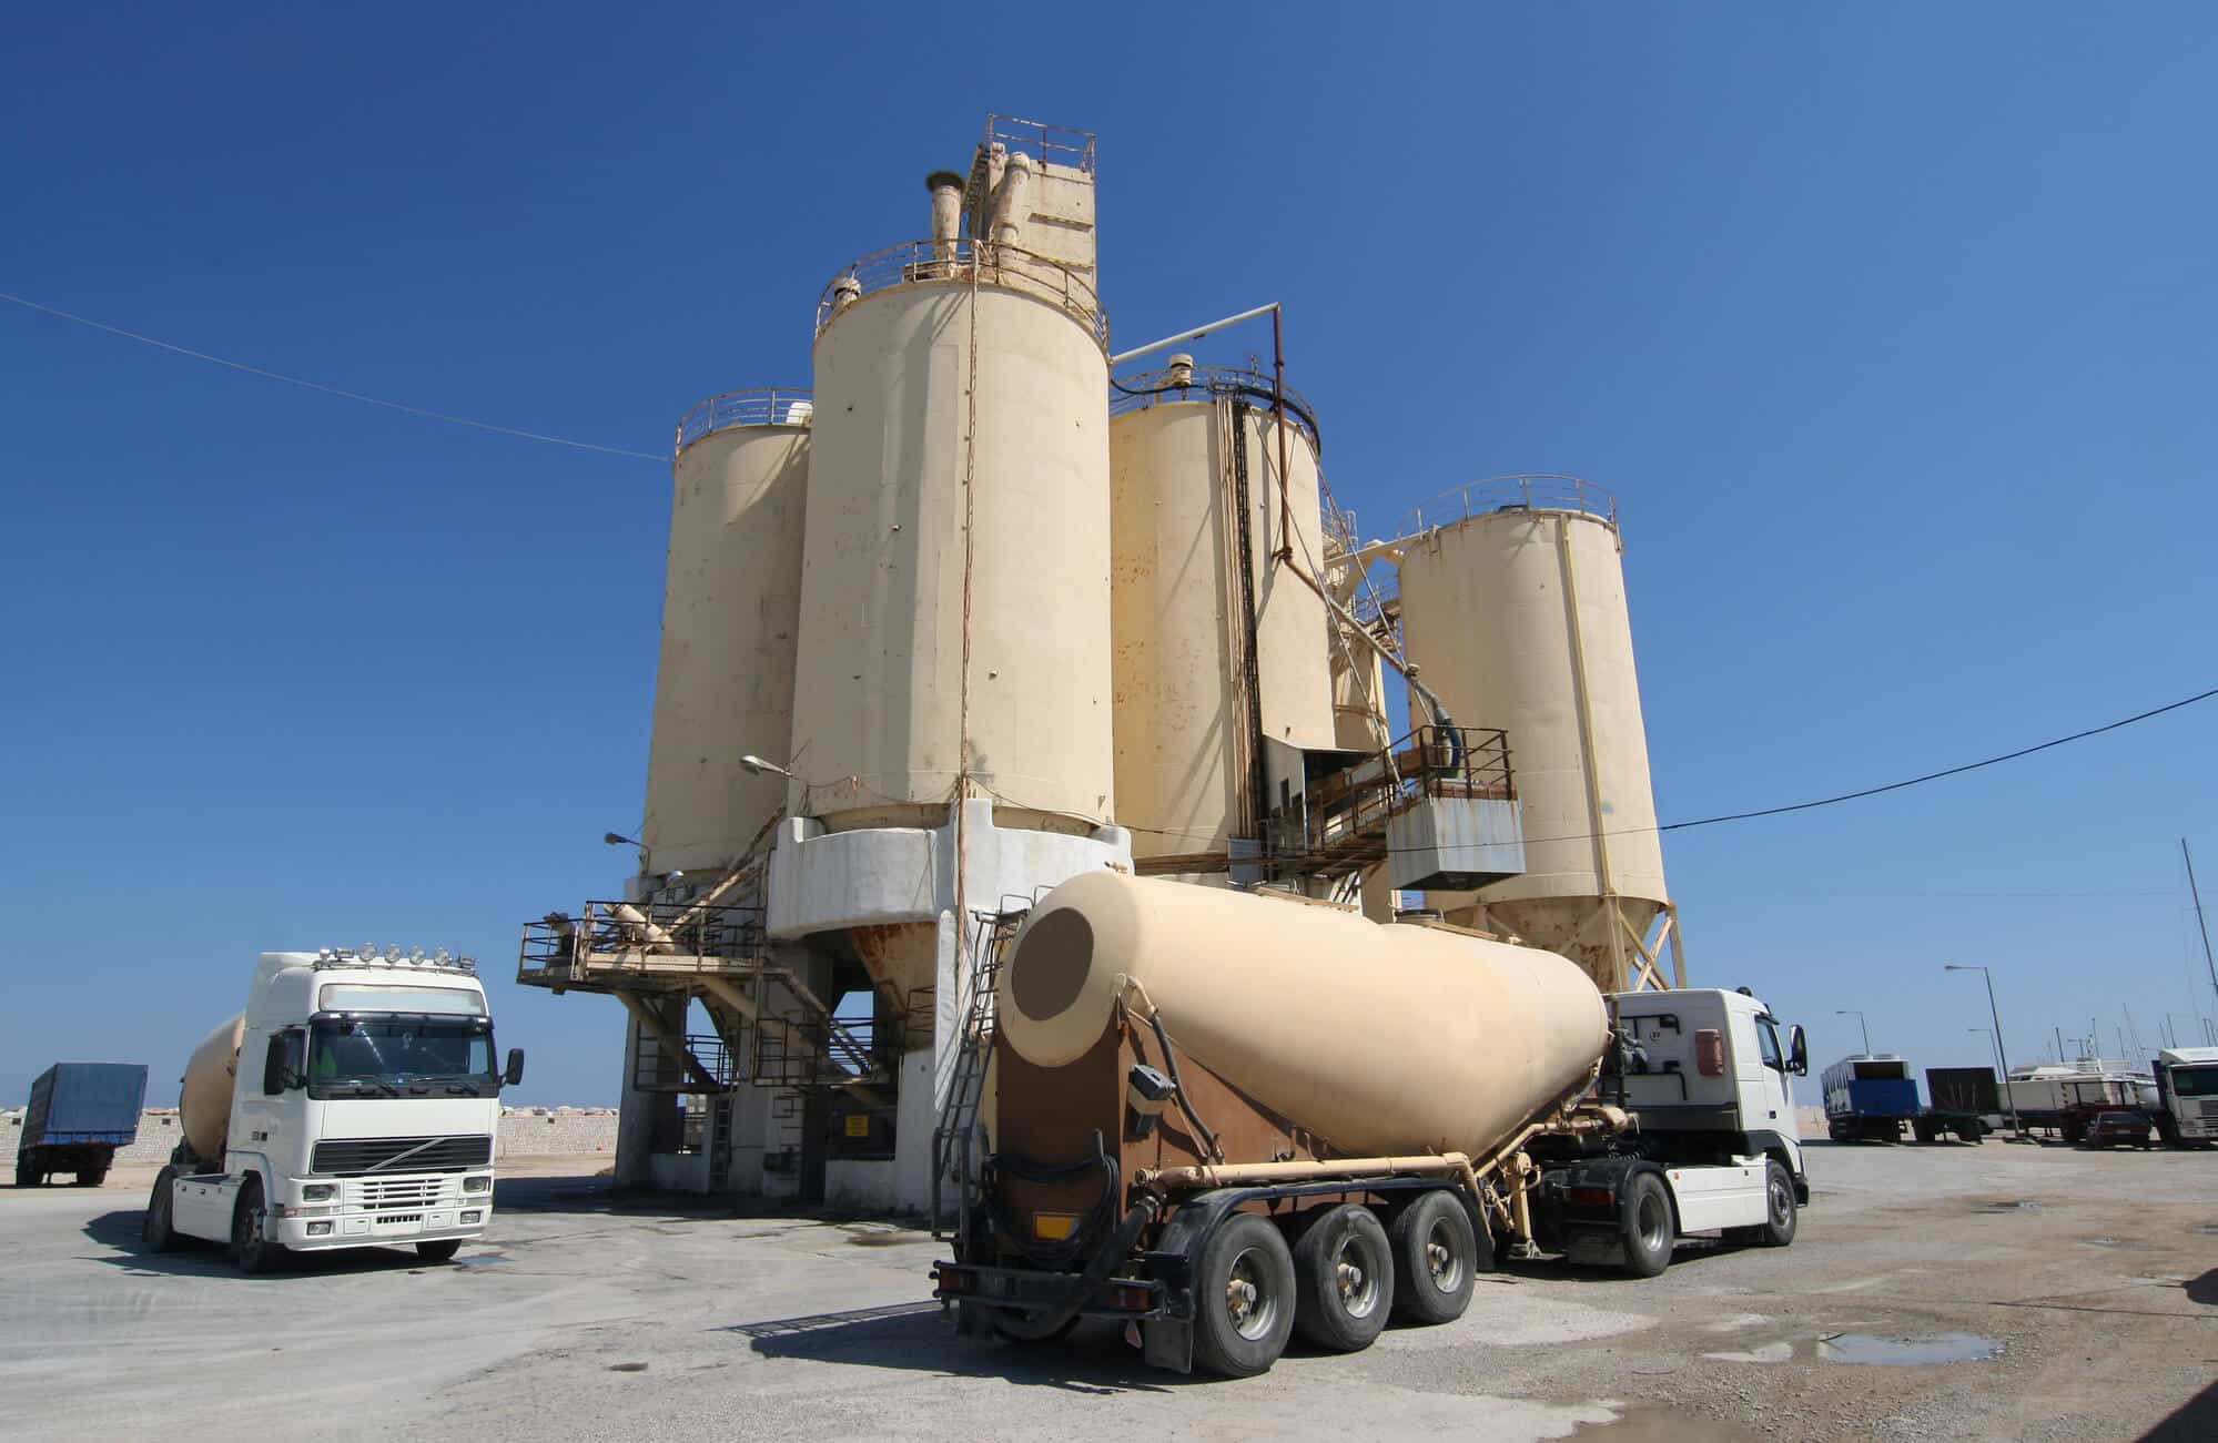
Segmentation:
{"type": "MultiPolygon", "coordinates": [[[[1621,499],[1664,818],[1872,785],[2209,685],[2218,20],[2196,7],[650,4],[11,20],[0,290],[661,454],[807,383],[818,288],[987,111],[1100,133],[1136,344],[1286,304],[1364,530],[1508,470],[1621,499]]],[[[1218,359],[1264,348],[1231,341],[1218,359]]],[[[528,1102],[621,1013],[512,986],[639,820],[668,465],[0,306],[0,1102],[164,1097],[255,951],[486,960],[528,1102]]],[[[1823,1066],[2211,1011],[2218,703],[1675,833],[1692,980],[1823,1066]]],[[[2114,1048],[2107,1048],[2114,1051],[2114,1048]]]]}

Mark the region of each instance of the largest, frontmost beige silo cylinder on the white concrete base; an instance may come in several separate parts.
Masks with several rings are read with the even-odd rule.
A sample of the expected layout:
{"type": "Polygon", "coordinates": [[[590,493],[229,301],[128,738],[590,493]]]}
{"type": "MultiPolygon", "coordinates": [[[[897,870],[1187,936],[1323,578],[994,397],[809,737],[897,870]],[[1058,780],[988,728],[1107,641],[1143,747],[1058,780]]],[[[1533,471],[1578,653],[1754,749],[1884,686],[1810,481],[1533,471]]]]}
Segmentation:
{"type": "Polygon", "coordinates": [[[932,827],[965,769],[996,822],[1113,811],[1105,324],[1065,266],[916,242],[816,335],[796,811],[932,827]]]}

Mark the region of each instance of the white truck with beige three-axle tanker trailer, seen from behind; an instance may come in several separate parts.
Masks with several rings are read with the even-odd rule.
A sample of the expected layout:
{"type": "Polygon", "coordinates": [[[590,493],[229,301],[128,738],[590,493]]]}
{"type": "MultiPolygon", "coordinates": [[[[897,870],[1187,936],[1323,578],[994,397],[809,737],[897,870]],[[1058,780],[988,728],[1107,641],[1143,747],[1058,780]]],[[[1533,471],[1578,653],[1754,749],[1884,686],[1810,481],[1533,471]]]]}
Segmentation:
{"type": "Polygon", "coordinates": [[[1746,989],[1604,997],[1457,927],[1089,873],[1000,966],[936,1297],[965,1332],[1113,1319],[1149,1363],[1249,1377],[1295,1330],[1353,1352],[1462,1317],[1499,1248],[1650,1277],[1686,1235],[1783,1246],[1785,1037],[1746,989]]]}

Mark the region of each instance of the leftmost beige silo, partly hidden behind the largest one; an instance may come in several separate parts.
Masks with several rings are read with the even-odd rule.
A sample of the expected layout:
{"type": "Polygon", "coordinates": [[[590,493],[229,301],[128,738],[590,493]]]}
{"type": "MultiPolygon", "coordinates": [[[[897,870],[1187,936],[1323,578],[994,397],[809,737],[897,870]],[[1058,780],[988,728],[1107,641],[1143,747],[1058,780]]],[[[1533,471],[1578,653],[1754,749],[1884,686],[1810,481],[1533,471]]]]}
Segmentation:
{"type": "Polygon", "coordinates": [[[643,871],[721,869],[785,805],[739,758],[790,745],[810,410],[739,390],[679,421],[643,871]]]}

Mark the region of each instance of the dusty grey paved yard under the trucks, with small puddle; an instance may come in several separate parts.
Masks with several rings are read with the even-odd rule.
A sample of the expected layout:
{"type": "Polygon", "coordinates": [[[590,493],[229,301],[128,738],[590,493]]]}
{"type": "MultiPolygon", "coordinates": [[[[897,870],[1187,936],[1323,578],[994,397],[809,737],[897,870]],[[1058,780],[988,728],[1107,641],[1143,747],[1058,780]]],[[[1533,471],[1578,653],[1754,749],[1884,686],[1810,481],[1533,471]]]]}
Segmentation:
{"type": "Polygon", "coordinates": [[[271,1279],[140,1255],[151,1170],[0,1188],[7,1434],[2218,1439],[2218,1153],[1819,1144],[1788,1252],[1493,1275],[1459,1323],[1244,1383],[1149,1372],[1113,1334],[956,1339],[914,1232],[617,1210],[606,1159],[530,1161],[455,1266],[271,1279]],[[1837,1361],[1950,1334],[1994,1357],[1837,1361]]]}

